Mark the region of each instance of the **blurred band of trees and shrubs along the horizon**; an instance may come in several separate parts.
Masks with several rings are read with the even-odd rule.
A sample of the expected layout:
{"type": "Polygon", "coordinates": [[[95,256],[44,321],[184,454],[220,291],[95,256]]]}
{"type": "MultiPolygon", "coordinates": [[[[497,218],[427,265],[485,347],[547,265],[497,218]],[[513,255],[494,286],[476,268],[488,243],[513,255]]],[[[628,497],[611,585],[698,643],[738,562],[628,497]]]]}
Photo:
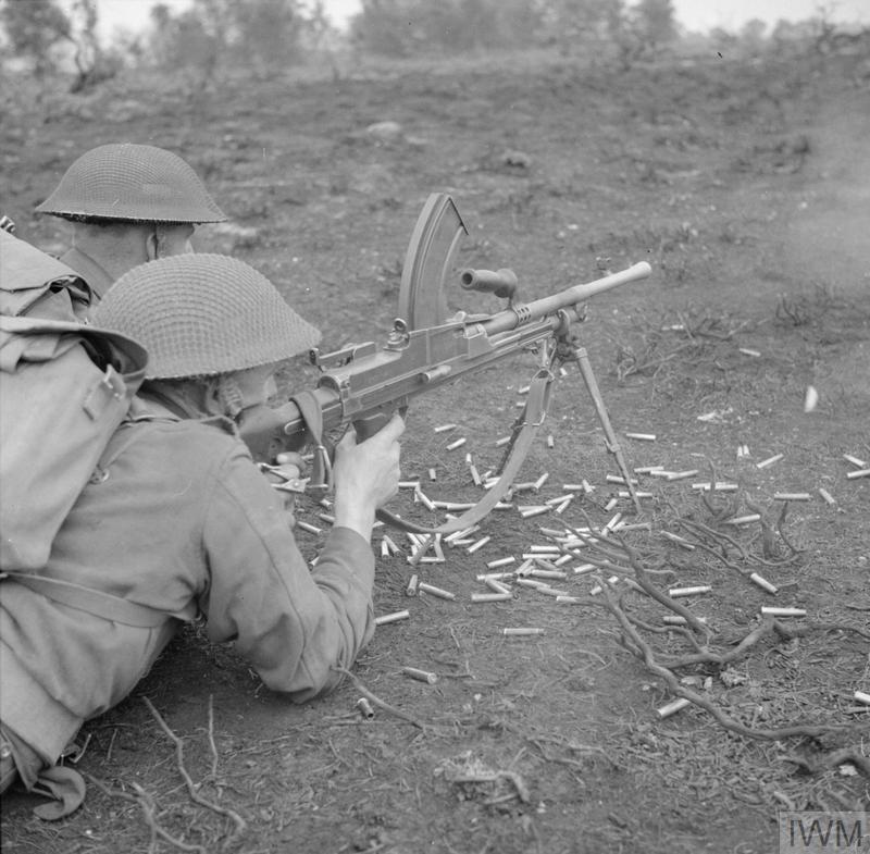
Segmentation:
{"type": "Polygon", "coordinates": [[[182,72],[202,87],[221,72],[263,77],[304,63],[340,76],[341,65],[356,69],[365,54],[449,58],[544,47],[629,69],[672,52],[750,61],[858,57],[870,44],[867,27],[834,25],[824,12],[769,32],[750,21],[735,32],[686,34],[673,0],[361,0],[348,34],[330,24],[324,0],[190,0],[182,11],[140,1],[153,3],[149,30],[116,36],[107,49],[96,36],[97,0],[65,0],[63,9],[60,0],[0,0],[0,66],[42,88],[46,78],[73,72],[71,89],[79,91],[122,65],[182,72]]]}

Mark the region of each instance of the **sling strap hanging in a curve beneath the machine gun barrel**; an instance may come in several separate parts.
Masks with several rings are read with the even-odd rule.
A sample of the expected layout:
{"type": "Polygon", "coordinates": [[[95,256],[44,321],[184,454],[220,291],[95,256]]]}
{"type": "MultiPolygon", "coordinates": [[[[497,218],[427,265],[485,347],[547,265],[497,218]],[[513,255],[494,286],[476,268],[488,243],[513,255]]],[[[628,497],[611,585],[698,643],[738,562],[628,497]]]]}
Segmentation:
{"type": "Polygon", "coordinates": [[[376,511],[377,518],[382,522],[391,524],[402,531],[412,531],[420,534],[449,534],[453,531],[463,531],[465,528],[471,528],[471,525],[484,519],[510,488],[529,453],[529,448],[534,442],[537,429],[547,416],[554,379],[552,372],[547,368],[543,368],[535,374],[529,386],[529,396],[523,411],[513,424],[511,440],[502,459],[498,481],[474,507],[465,510],[456,519],[450,519],[444,524],[434,527],[410,522],[383,508],[376,511]]]}

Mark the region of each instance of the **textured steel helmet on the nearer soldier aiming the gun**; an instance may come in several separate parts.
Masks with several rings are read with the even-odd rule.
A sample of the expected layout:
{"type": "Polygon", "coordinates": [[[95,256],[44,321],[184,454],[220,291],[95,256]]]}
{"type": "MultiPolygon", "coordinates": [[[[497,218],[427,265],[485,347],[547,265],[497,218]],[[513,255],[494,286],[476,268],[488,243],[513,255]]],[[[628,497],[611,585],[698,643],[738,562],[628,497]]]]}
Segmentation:
{"type": "Polygon", "coordinates": [[[112,285],[92,320],[145,346],[149,380],[272,364],[321,337],[252,267],[207,252],[134,267],[112,285]]]}

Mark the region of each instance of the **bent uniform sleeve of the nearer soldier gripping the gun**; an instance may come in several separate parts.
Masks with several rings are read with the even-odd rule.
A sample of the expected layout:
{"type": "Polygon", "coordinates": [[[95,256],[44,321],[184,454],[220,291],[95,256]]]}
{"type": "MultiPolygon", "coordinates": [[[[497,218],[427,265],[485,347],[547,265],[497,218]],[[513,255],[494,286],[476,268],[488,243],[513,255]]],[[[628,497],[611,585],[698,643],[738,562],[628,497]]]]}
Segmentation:
{"type": "Polygon", "coordinates": [[[275,491],[239,446],[217,471],[200,607],[212,641],[235,641],[263,682],[302,703],[340,679],[374,632],[374,556],[335,528],[309,571],[275,491]]]}

